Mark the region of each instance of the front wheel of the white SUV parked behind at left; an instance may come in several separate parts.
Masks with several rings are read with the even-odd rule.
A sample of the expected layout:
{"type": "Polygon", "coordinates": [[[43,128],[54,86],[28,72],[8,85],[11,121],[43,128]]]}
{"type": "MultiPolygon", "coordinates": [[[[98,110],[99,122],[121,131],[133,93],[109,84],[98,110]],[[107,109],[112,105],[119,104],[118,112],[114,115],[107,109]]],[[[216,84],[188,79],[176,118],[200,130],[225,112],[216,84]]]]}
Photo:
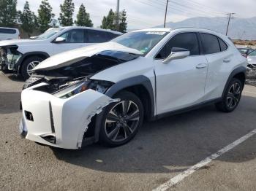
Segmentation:
{"type": "Polygon", "coordinates": [[[34,67],[36,67],[43,60],[44,59],[38,56],[32,56],[32,57],[26,58],[26,60],[23,61],[21,66],[22,77],[24,79],[28,79],[29,77],[31,77],[31,74],[33,74],[34,67]]]}

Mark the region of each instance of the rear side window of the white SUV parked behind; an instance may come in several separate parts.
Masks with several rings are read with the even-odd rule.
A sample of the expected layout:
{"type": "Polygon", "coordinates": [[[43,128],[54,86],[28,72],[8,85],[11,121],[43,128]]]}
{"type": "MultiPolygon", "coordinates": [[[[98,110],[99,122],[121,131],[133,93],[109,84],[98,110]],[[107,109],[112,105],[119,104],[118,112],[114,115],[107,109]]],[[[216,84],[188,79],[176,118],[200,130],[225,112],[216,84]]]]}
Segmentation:
{"type": "Polygon", "coordinates": [[[105,31],[87,30],[86,42],[87,43],[100,43],[108,42],[110,37],[105,31]]]}

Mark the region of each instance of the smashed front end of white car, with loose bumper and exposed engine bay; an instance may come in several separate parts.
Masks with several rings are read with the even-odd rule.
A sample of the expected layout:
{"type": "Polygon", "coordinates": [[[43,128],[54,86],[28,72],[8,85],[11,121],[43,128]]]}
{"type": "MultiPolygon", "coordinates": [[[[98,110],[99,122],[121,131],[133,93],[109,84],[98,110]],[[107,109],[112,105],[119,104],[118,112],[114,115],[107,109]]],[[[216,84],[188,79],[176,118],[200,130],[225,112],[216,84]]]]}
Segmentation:
{"type": "Polygon", "coordinates": [[[36,69],[21,95],[23,120],[20,133],[31,141],[65,149],[78,149],[91,119],[105,106],[118,101],[105,95],[114,83],[91,77],[138,55],[104,51],[68,66],[36,69]]]}

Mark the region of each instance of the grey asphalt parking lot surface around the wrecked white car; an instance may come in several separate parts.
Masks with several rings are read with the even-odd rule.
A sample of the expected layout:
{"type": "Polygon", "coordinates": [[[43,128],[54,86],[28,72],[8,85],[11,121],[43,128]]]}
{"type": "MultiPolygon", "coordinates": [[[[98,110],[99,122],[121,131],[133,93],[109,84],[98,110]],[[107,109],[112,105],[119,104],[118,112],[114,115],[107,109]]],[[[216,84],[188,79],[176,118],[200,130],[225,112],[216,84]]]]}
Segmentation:
{"type": "MultiPolygon", "coordinates": [[[[154,190],[256,128],[256,87],[232,113],[206,106],[146,122],[128,144],[56,149],[20,139],[23,80],[0,74],[0,190],[154,190]]],[[[256,190],[256,136],[168,190],[256,190]]]]}

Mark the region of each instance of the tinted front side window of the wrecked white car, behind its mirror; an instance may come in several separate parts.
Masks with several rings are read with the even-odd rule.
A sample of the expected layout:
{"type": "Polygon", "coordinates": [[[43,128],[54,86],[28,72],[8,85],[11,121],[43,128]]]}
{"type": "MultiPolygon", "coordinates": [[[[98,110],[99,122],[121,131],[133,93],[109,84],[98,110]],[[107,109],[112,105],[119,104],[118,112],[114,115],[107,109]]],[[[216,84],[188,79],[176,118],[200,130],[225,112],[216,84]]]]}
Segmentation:
{"type": "Polygon", "coordinates": [[[197,34],[182,33],[173,36],[173,38],[165,44],[165,47],[160,50],[156,58],[166,58],[170,55],[173,47],[185,48],[190,51],[190,55],[200,55],[197,34]]]}

